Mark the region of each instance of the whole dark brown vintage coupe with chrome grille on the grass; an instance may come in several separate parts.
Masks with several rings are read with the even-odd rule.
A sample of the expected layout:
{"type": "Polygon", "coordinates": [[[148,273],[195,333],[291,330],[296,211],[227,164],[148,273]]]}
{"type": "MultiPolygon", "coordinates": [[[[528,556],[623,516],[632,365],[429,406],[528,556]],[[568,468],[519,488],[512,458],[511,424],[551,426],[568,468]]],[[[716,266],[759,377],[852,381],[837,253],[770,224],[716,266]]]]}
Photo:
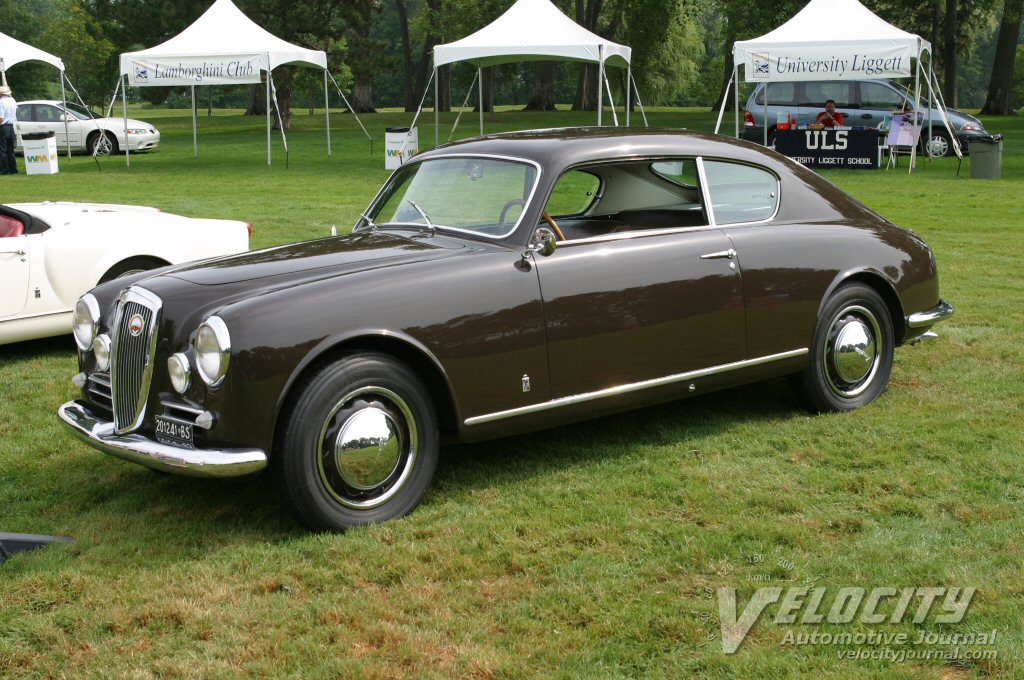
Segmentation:
{"type": "Polygon", "coordinates": [[[305,524],[343,529],[415,508],[445,436],[786,375],[810,409],[854,409],[951,313],[924,241],[773,152],[494,135],[407,163],[348,236],[86,294],[59,415],[158,470],[269,465],[305,524]]]}

